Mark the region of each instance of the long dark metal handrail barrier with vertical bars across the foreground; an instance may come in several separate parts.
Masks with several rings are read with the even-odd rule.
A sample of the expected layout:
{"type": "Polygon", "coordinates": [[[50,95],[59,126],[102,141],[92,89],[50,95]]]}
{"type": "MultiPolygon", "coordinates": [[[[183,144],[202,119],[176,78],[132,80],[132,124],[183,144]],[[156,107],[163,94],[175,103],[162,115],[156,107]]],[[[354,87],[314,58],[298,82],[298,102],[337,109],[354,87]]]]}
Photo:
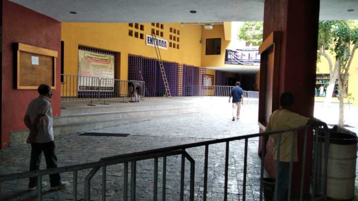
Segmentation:
{"type": "MultiPolygon", "coordinates": [[[[326,140],[325,140],[325,161],[324,161],[324,178],[323,178],[323,197],[326,197],[326,189],[327,188],[327,164],[328,164],[328,145],[329,145],[329,130],[326,124],[324,124],[323,126],[323,131],[325,132],[325,135],[327,135],[326,140]]],[[[46,170],[37,170],[37,171],[29,171],[29,172],[19,172],[19,173],[12,173],[12,174],[3,174],[0,175],[0,183],[4,182],[4,181],[9,181],[9,180],[16,180],[16,179],[23,179],[23,178],[28,178],[28,177],[37,177],[38,181],[41,181],[42,176],[43,175],[48,175],[48,174],[54,174],[54,173],[61,173],[61,172],[73,172],[74,175],[74,192],[73,192],[73,198],[77,199],[77,172],[80,170],[85,170],[85,169],[92,169],[91,172],[89,172],[89,174],[86,176],[85,179],[85,200],[89,201],[90,200],[90,179],[92,178],[92,176],[102,167],[103,169],[103,174],[102,174],[102,193],[104,192],[104,194],[102,195],[102,200],[105,200],[105,188],[106,188],[106,167],[109,165],[115,165],[115,164],[121,164],[124,163],[124,172],[127,174],[128,173],[128,162],[131,162],[132,164],[132,172],[131,172],[131,176],[132,176],[132,181],[131,181],[131,200],[135,200],[135,172],[136,172],[136,161],[140,161],[140,160],[146,160],[146,159],[155,159],[155,164],[154,164],[154,193],[153,193],[153,200],[156,200],[157,198],[157,193],[156,193],[156,188],[157,188],[157,171],[158,171],[158,158],[159,157],[163,157],[163,165],[165,164],[165,159],[167,156],[172,156],[172,155],[182,155],[182,161],[181,161],[181,176],[180,176],[180,200],[182,200],[183,198],[183,179],[184,179],[184,158],[186,158],[187,160],[189,160],[190,164],[191,164],[191,168],[190,168],[190,201],[194,200],[194,177],[195,177],[195,161],[193,158],[190,157],[190,155],[185,151],[185,149],[187,148],[192,148],[192,147],[198,147],[198,146],[205,146],[205,172],[206,174],[208,173],[207,169],[208,169],[208,147],[210,144],[218,144],[218,143],[226,143],[226,155],[225,155],[225,192],[227,193],[227,186],[228,186],[228,158],[229,158],[229,142],[231,141],[238,141],[238,140],[245,140],[245,157],[244,157],[244,185],[246,186],[246,176],[247,176],[247,172],[246,172],[246,165],[247,165],[247,142],[248,139],[250,138],[256,138],[256,137],[263,137],[264,139],[267,138],[270,135],[278,135],[278,140],[280,141],[281,139],[281,135],[285,135],[288,134],[289,132],[297,132],[298,130],[304,130],[304,153],[306,153],[306,144],[307,144],[307,131],[309,129],[314,129],[316,131],[316,144],[314,146],[314,162],[313,162],[313,176],[315,178],[316,172],[317,170],[320,170],[321,168],[318,167],[318,160],[320,157],[320,149],[318,149],[317,146],[317,142],[318,142],[318,134],[317,132],[319,131],[319,127],[312,127],[312,126],[302,126],[302,127],[298,127],[298,128],[292,128],[292,129],[285,129],[285,130],[279,130],[279,131],[270,131],[270,132],[264,132],[264,133],[256,133],[256,134],[250,134],[250,135],[244,135],[244,136],[236,136],[236,137],[230,137],[230,138],[223,138],[223,139],[216,139],[216,140],[210,140],[210,141],[205,141],[205,142],[198,142],[198,143],[190,143],[190,144],[181,144],[181,145],[175,145],[175,146],[170,146],[170,147],[164,147],[164,148],[157,148],[157,149],[151,149],[151,150],[146,150],[146,151],[139,151],[139,152],[135,152],[135,153],[129,153],[129,154],[120,154],[120,155],[116,155],[116,156],[111,156],[111,157],[104,157],[101,158],[98,162],[92,162],[92,163],[84,163],[84,164],[79,164],[79,165],[72,165],[72,166],[65,166],[65,167],[60,167],[60,168],[53,168],[53,169],[46,169],[46,170]],[[134,179],[134,180],[133,180],[134,179]],[[134,191],[134,193],[133,193],[134,191]]],[[[293,134],[292,134],[293,135],[293,134]]],[[[292,147],[291,149],[293,149],[293,142],[292,142],[292,147]]],[[[280,148],[280,143],[277,144],[278,150],[280,148]]],[[[263,144],[263,154],[265,155],[265,150],[266,150],[266,144],[263,144]]],[[[303,155],[303,157],[305,157],[305,154],[303,155]]],[[[279,151],[277,152],[277,160],[279,160],[279,151]]],[[[291,161],[293,160],[293,157],[291,157],[291,161]]],[[[303,158],[303,164],[302,164],[302,172],[301,172],[301,187],[300,187],[300,201],[302,201],[302,193],[303,193],[303,176],[304,176],[304,160],[305,158],[303,158]]],[[[263,167],[264,167],[264,160],[262,160],[261,162],[261,185],[260,185],[260,201],[262,201],[262,179],[263,179],[263,167]]],[[[290,171],[292,172],[292,167],[293,167],[293,163],[290,163],[290,171]]],[[[165,168],[163,167],[163,170],[165,170],[165,168]]],[[[276,175],[277,177],[277,175],[276,175]]],[[[165,187],[165,173],[163,172],[163,187],[165,187]]],[[[277,179],[277,178],[276,178],[277,179]]],[[[291,175],[289,177],[289,180],[291,180],[291,175]]],[[[315,180],[313,180],[313,185],[315,184],[314,182],[315,180]]],[[[128,182],[127,177],[124,177],[124,186],[125,186],[125,192],[123,192],[123,198],[126,201],[127,200],[127,188],[126,188],[126,182],[128,182]]],[[[208,183],[208,177],[205,176],[204,177],[204,201],[206,201],[206,193],[207,193],[207,183],[208,183]]],[[[38,191],[38,196],[39,196],[39,200],[42,200],[42,194],[41,194],[41,182],[38,183],[37,185],[39,191],[38,191]]],[[[315,192],[315,187],[313,189],[313,193],[315,192]]],[[[276,193],[277,193],[277,189],[276,189],[276,193]]],[[[245,201],[245,194],[246,194],[246,188],[243,188],[243,192],[242,192],[242,196],[243,196],[243,201],[245,201]]],[[[291,194],[291,183],[289,185],[289,195],[291,194]]],[[[1,196],[1,195],[0,195],[1,196]]],[[[165,193],[163,193],[163,198],[165,198],[165,193]]],[[[224,195],[224,200],[227,200],[227,195],[224,195]]]]}

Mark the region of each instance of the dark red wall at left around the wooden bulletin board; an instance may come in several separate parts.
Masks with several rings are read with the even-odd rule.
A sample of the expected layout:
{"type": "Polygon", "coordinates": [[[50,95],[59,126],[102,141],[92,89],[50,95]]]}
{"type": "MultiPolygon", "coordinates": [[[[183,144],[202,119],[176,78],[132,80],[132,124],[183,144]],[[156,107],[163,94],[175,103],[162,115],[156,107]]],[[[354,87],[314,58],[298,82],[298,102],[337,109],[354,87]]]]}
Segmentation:
{"type": "Polygon", "coordinates": [[[54,116],[60,115],[60,41],[61,23],[19,4],[2,0],[2,66],[1,66],[1,148],[10,143],[10,131],[25,129],[23,118],[37,90],[14,89],[13,43],[55,50],[56,86],[51,99],[54,116]]]}

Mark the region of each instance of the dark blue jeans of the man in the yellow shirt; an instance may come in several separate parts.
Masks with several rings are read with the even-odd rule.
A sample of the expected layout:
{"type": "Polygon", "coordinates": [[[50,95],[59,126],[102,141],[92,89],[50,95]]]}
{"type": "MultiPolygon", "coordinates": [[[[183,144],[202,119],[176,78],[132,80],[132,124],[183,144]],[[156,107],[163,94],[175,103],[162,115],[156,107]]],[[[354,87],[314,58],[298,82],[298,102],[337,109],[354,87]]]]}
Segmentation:
{"type": "MultiPolygon", "coordinates": [[[[288,179],[290,174],[290,162],[278,162],[278,179],[275,182],[277,185],[277,195],[273,196],[273,201],[287,201],[286,192],[288,190],[288,179]]],[[[276,188],[276,186],[275,186],[276,188]]]]}

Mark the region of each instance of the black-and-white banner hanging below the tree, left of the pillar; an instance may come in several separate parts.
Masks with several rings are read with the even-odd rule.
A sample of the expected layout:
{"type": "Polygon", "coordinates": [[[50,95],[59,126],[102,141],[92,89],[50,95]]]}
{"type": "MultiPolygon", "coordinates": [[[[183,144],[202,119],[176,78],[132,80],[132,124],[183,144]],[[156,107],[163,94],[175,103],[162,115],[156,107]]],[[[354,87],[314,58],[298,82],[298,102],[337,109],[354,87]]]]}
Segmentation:
{"type": "Polygon", "coordinates": [[[258,49],[226,49],[225,64],[260,65],[258,49]]]}

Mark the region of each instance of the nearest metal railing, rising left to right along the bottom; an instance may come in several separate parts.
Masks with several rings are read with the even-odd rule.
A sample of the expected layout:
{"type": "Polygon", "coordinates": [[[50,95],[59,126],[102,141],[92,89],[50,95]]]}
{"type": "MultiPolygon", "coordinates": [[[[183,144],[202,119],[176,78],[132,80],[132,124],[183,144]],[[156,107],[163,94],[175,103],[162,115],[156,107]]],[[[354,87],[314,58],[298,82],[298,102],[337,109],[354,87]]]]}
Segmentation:
{"type": "MultiPolygon", "coordinates": [[[[123,181],[123,201],[128,200],[128,163],[131,163],[131,181],[130,181],[130,200],[135,201],[136,195],[136,162],[139,160],[146,160],[146,159],[154,159],[154,185],[153,185],[153,201],[157,201],[157,190],[158,190],[158,158],[163,157],[163,190],[162,196],[163,201],[165,201],[166,196],[166,157],[173,156],[173,155],[181,155],[181,171],[180,171],[180,201],[183,201],[184,195],[184,172],[185,172],[185,159],[190,161],[190,201],[194,200],[194,178],[195,178],[195,161],[190,155],[185,151],[185,149],[193,148],[193,147],[200,147],[205,146],[205,158],[204,158],[204,194],[203,194],[203,201],[207,201],[207,193],[208,193],[208,158],[209,158],[209,145],[218,144],[218,143],[226,143],[225,149],[225,182],[224,182],[224,201],[227,201],[228,196],[228,167],[229,167],[229,146],[230,143],[233,141],[240,141],[244,140],[245,147],[244,147],[244,163],[243,163],[243,190],[242,190],[242,201],[246,200],[246,181],[247,181],[247,148],[248,148],[248,140],[252,138],[262,137],[264,142],[265,139],[268,138],[270,135],[277,135],[278,143],[277,143],[277,161],[280,159],[280,141],[282,135],[292,135],[291,139],[291,153],[294,151],[294,135],[301,135],[298,131],[304,131],[304,143],[303,143],[303,155],[302,155],[302,166],[301,166],[301,179],[300,179],[300,193],[299,193],[299,200],[302,201],[303,191],[304,191],[304,175],[305,175],[305,161],[306,161],[306,153],[307,153],[307,139],[308,133],[314,129],[315,136],[314,136],[314,147],[313,147],[313,171],[312,173],[312,201],[315,200],[316,188],[317,185],[316,180],[320,180],[321,186],[317,189],[321,189],[322,194],[319,198],[326,198],[327,195],[327,165],[328,165],[328,145],[329,145],[329,130],[327,125],[320,129],[319,127],[313,128],[311,126],[303,126],[295,129],[289,130],[281,130],[281,131],[272,131],[272,132],[265,132],[265,133],[257,133],[245,136],[238,136],[238,137],[231,137],[231,138],[224,138],[218,140],[210,140],[205,142],[198,142],[192,144],[183,144],[183,145],[176,145],[170,146],[165,148],[158,148],[152,149],[148,151],[141,151],[136,153],[129,153],[129,154],[122,154],[112,157],[102,158],[98,162],[93,163],[86,163],[80,165],[73,165],[73,166],[66,166],[54,169],[47,169],[47,170],[38,170],[32,172],[21,172],[21,173],[13,173],[13,174],[4,174],[0,175],[0,198],[1,198],[1,183],[4,181],[10,180],[17,180],[17,179],[24,179],[28,177],[37,177],[37,189],[38,189],[38,200],[42,201],[42,186],[41,181],[44,175],[54,174],[54,173],[62,173],[62,172],[73,172],[73,200],[77,200],[77,172],[80,170],[91,169],[91,171],[85,177],[85,201],[90,200],[90,180],[91,178],[98,172],[100,168],[102,168],[102,201],[106,200],[106,168],[110,165],[116,164],[124,164],[124,181],[123,181]],[[325,142],[324,142],[324,162],[323,164],[319,160],[321,157],[321,149],[318,143],[319,135],[324,135],[325,142]],[[323,165],[319,167],[319,165],[323,165]],[[323,170],[322,179],[317,178],[317,172],[323,170]]],[[[322,143],[321,143],[322,145],[322,143]]],[[[263,155],[265,156],[266,152],[266,144],[262,145],[263,155]]],[[[288,186],[288,200],[291,200],[291,181],[292,181],[292,171],[293,171],[293,154],[291,154],[291,162],[290,162],[290,175],[289,175],[289,186],[288,186]]],[[[260,172],[260,201],[263,200],[263,176],[264,176],[264,165],[265,160],[261,160],[261,172],[260,172]]],[[[276,163],[276,181],[278,178],[278,167],[279,163],[276,163]]],[[[275,193],[277,194],[277,188],[275,188],[275,193]]]]}

